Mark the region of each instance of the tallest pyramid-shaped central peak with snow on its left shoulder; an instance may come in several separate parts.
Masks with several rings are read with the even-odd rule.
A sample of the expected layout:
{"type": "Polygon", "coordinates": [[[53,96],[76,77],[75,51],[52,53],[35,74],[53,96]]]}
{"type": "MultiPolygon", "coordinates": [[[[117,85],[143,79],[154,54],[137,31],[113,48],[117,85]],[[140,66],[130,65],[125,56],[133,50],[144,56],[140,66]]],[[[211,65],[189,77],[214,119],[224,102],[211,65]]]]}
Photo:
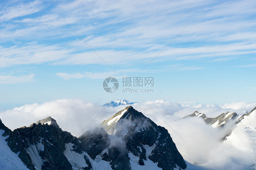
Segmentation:
{"type": "MultiPolygon", "coordinates": [[[[156,125],[141,112],[133,109],[132,106],[127,106],[108,120],[103,121],[102,127],[109,136],[109,140],[104,143],[110,145],[110,149],[107,152],[103,151],[106,152],[103,155],[109,156],[112,147],[120,147],[119,150],[122,150],[124,145],[125,150],[127,150],[125,151],[127,155],[124,155],[124,158],[130,160],[123,160],[124,164],[127,164],[125,167],[131,166],[132,170],[140,170],[142,165],[145,169],[154,170],[159,169],[159,167],[163,170],[174,170],[176,167],[179,167],[178,169],[186,168],[186,164],[168,131],[164,127],[156,125]],[[116,140],[111,141],[111,139],[116,140]],[[112,143],[116,144],[111,145],[112,143]],[[121,146],[118,146],[120,144],[121,146]],[[157,164],[154,165],[152,162],[157,164]]],[[[87,136],[87,139],[94,137],[87,134],[83,135],[87,136]]],[[[102,133],[100,140],[103,136],[106,134],[102,133]]],[[[83,140],[82,138],[81,140],[83,140]]],[[[97,144],[98,139],[95,140],[96,142],[92,142],[93,145],[94,143],[97,144]]],[[[121,165],[118,166],[121,167],[121,165]]],[[[127,168],[127,170],[131,169],[127,168]]]]}

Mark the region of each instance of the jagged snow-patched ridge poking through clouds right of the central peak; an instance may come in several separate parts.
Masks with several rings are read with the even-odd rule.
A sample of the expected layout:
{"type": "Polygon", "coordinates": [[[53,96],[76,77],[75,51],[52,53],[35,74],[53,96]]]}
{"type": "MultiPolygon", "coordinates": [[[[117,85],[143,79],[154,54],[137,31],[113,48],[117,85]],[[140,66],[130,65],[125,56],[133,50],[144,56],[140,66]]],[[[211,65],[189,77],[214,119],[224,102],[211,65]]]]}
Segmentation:
{"type": "Polygon", "coordinates": [[[239,118],[239,115],[236,114],[236,112],[230,113],[222,113],[218,115],[215,118],[208,118],[205,114],[199,113],[198,111],[194,111],[194,113],[185,116],[184,118],[187,117],[201,117],[202,119],[205,120],[205,123],[208,125],[212,125],[212,127],[223,127],[227,122],[230,120],[237,120],[239,118]]]}

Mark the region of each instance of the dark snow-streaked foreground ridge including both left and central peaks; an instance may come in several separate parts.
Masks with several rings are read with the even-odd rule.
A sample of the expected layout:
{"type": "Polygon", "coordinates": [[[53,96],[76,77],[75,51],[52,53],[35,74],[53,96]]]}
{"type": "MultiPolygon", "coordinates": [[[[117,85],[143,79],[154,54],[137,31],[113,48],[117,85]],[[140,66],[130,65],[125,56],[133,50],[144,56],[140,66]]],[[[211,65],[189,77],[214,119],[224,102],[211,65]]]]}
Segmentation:
{"type": "Polygon", "coordinates": [[[0,121],[0,130],[29,170],[180,170],[187,166],[168,131],[131,106],[79,138],[61,130],[51,117],[14,131],[0,121]]]}

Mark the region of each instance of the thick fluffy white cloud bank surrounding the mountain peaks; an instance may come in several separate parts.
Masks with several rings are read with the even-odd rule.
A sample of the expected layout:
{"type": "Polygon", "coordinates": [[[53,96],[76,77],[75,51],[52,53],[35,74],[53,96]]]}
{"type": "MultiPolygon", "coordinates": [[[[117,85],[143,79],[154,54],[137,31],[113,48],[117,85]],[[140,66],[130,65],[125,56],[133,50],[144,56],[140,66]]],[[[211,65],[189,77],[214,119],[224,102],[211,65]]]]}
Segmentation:
{"type": "MultiPolygon", "coordinates": [[[[241,135],[243,141],[239,142],[249,142],[251,141],[250,134],[243,134],[244,130],[240,128],[236,130],[235,137],[230,136],[230,140],[221,143],[219,139],[226,134],[231,125],[226,125],[225,128],[219,130],[206,125],[205,121],[199,117],[179,119],[193,113],[195,110],[206,114],[207,117],[215,117],[227,111],[241,115],[246,111],[249,112],[255,106],[256,103],[247,102],[203,105],[194,102],[172,103],[165,100],[147,101],[147,103],[141,102],[133,105],[136,110],[169,131],[185,160],[208,168],[230,170],[244,169],[245,165],[242,162],[246,162],[248,167],[253,163],[253,161],[250,161],[252,159],[250,154],[255,156],[255,153],[248,154],[249,152],[239,147],[241,143],[233,144],[232,141],[232,138],[241,135]],[[243,151],[241,152],[241,150],[243,151]],[[234,159],[234,155],[240,155],[241,153],[242,156],[234,159]]],[[[103,120],[107,120],[125,107],[125,105],[121,105],[108,108],[83,100],[62,99],[6,110],[0,112],[0,119],[7,127],[14,130],[51,116],[63,130],[79,136],[86,130],[100,125],[103,120]]],[[[253,131],[253,129],[250,130],[253,131]]],[[[255,135],[255,130],[251,133],[255,135]]]]}

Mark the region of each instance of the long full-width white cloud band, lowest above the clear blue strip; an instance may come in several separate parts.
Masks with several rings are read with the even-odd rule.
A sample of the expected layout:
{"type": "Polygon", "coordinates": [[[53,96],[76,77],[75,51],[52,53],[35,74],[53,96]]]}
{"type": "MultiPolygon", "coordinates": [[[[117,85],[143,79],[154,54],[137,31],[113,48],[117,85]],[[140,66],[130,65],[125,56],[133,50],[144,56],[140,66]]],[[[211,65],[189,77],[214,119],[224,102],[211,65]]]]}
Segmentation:
{"type": "MultiPolygon", "coordinates": [[[[81,42],[82,43],[82,42],[81,42]]],[[[84,43],[82,45],[86,46],[84,43]]],[[[85,48],[83,46],[83,48],[85,48]]],[[[79,46],[77,46],[79,48],[79,46]]],[[[163,47],[164,48],[164,47],[163,47]]],[[[232,56],[256,53],[256,44],[246,45],[242,43],[233,45],[213,45],[205,47],[188,47],[188,48],[168,48],[163,51],[158,61],[171,60],[195,60],[201,58],[214,58],[220,55],[232,56]]],[[[41,64],[51,62],[53,65],[105,65],[105,60],[109,65],[127,65],[137,62],[145,63],[153,59],[159,51],[133,51],[133,50],[97,50],[101,58],[93,51],[76,52],[76,48],[68,49],[65,45],[38,45],[36,43],[27,44],[26,46],[0,46],[0,67],[12,65],[41,64]]],[[[219,58],[216,60],[220,60],[219,58]]],[[[240,67],[252,67],[255,65],[241,65],[240,67]]],[[[192,67],[184,67],[184,70],[192,67]]],[[[195,68],[194,68],[195,70],[195,68]]]]}

